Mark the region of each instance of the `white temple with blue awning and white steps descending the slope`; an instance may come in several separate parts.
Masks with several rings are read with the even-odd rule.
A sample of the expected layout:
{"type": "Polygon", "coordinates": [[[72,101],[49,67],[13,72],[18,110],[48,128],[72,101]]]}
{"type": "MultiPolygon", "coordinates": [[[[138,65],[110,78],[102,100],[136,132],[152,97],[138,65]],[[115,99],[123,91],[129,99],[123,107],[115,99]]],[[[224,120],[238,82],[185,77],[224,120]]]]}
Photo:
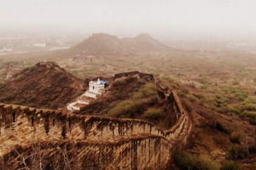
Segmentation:
{"type": "Polygon", "coordinates": [[[68,110],[80,110],[81,107],[86,106],[97,98],[98,95],[102,95],[105,92],[107,81],[99,80],[90,81],[89,90],[87,90],[76,102],[68,104],[68,110]]]}

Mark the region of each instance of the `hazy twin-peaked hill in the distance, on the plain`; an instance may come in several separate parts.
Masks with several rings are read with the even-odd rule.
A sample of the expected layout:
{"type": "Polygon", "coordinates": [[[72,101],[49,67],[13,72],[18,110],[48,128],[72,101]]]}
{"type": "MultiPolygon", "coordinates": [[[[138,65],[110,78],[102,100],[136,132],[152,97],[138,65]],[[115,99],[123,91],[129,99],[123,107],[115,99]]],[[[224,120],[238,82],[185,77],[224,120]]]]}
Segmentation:
{"type": "Polygon", "coordinates": [[[106,33],[95,33],[71,48],[71,51],[85,55],[128,55],[141,53],[164,53],[171,50],[148,34],[135,38],[118,38],[106,33]]]}

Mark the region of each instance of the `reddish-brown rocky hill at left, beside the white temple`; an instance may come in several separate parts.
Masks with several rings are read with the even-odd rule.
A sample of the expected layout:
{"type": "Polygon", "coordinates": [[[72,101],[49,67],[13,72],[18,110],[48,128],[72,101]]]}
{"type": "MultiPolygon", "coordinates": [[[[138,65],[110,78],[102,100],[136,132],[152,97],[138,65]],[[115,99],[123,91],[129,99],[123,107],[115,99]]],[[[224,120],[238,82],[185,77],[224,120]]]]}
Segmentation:
{"type": "Polygon", "coordinates": [[[0,101],[57,109],[78,97],[84,80],[52,62],[37,63],[0,84],[0,101]]]}

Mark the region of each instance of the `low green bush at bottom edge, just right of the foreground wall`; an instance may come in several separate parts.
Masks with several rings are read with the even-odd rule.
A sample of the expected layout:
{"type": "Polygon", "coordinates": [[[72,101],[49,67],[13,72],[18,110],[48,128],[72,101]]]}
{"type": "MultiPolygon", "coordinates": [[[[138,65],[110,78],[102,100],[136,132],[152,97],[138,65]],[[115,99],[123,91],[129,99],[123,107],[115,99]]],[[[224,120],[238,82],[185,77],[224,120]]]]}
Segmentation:
{"type": "Polygon", "coordinates": [[[174,155],[174,163],[182,170],[217,170],[219,165],[206,155],[191,155],[181,152],[174,155]]]}

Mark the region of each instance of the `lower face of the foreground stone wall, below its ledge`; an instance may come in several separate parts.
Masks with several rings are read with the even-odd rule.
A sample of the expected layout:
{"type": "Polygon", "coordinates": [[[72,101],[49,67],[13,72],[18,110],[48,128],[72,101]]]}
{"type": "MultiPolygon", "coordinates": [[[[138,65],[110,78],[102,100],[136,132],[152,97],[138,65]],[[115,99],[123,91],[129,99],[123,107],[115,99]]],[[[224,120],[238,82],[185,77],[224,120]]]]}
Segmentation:
{"type": "MultiPolygon", "coordinates": [[[[26,148],[16,148],[16,151],[28,157],[37,148],[45,148],[38,154],[41,154],[41,162],[46,169],[65,169],[65,161],[71,162],[70,169],[166,169],[171,158],[169,141],[157,136],[122,138],[105,142],[44,141],[26,148]]],[[[5,160],[10,162],[13,158],[19,157],[16,151],[5,155],[5,160]]],[[[30,166],[29,164],[28,162],[27,165],[30,166]]],[[[13,169],[24,167],[19,163],[7,163],[6,166],[13,169]]]]}

